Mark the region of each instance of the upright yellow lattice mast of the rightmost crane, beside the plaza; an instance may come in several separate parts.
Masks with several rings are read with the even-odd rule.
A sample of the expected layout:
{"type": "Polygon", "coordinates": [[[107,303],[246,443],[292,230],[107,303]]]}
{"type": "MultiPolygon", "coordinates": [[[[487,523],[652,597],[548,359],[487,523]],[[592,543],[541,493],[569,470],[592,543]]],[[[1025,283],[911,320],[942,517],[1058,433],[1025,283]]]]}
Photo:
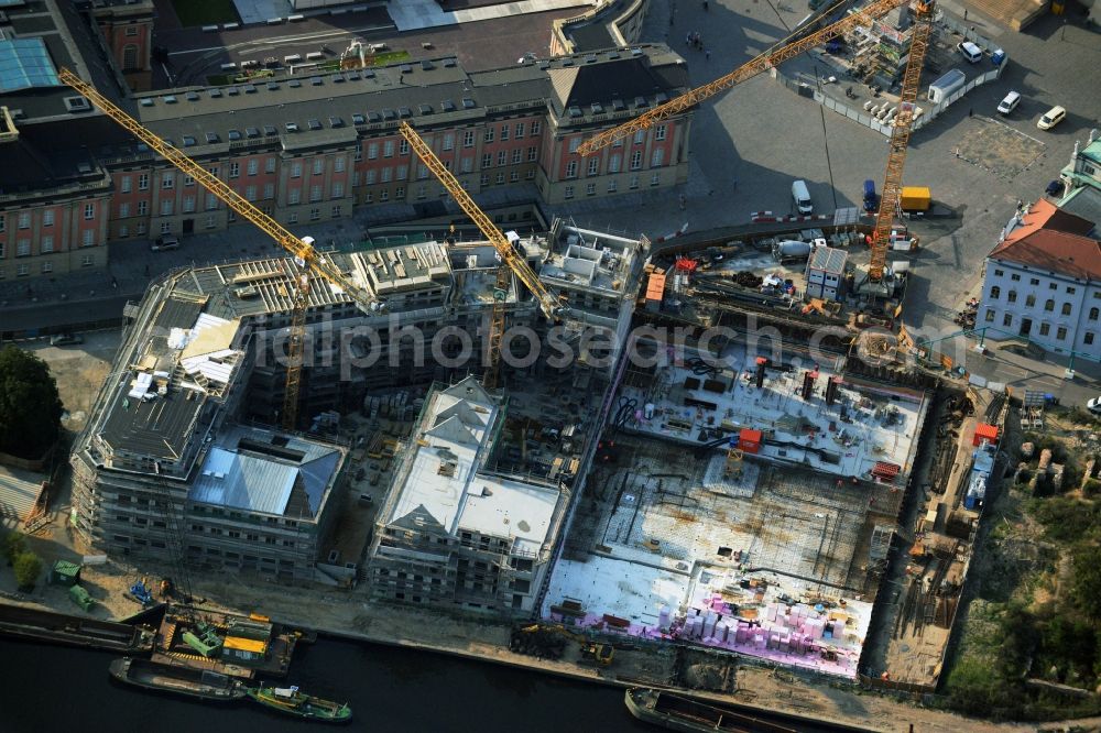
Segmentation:
{"type": "Polygon", "coordinates": [[[929,35],[933,32],[933,1],[918,2],[916,11],[917,23],[909,36],[909,59],[906,62],[902,89],[898,94],[898,114],[894,119],[894,128],[891,130],[891,140],[887,143],[890,150],[886,175],[883,177],[883,196],[880,199],[879,211],[875,212],[875,230],[872,233],[872,256],[868,265],[868,278],[874,283],[883,280],[883,267],[891,245],[891,229],[894,226],[898,194],[902,190],[906,147],[914,130],[914,111],[922,66],[925,64],[925,53],[928,51],[929,35]]]}

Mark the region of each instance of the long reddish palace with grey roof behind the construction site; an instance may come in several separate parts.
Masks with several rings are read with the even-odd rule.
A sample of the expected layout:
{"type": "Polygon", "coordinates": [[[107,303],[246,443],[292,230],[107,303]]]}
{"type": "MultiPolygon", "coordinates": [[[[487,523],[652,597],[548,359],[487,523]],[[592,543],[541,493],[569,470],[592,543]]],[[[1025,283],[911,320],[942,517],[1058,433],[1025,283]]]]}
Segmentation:
{"type": "MultiPolygon", "coordinates": [[[[54,67],[75,68],[291,228],[368,206],[391,221],[434,216],[446,190],[408,150],[397,131],[403,121],[476,197],[508,186],[517,201],[560,204],[687,180],[690,111],[640,132],[625,151],[577,154],[593,131],[688,89],[684,59],[662,44],[487,70],[443,57],[309,76],[280,72],[132,96],[99,66],[74,65],[50,40],[45,48],[54,67]],[[303,172],[314,176],[307,187],[303,172]]],[[[11,79],[25,85],[30,77],[13,72],[11,79]]],[[[101,248],[112,242],[216,231],[235,221],[224,204],[196,192],[68,87],[0,90],[4,107],[11,123],[0,124],[0,169],[18,173],[0,180],[0,194],[13,194],[0,201],[0,278],[101,267],[101,248]],[[47,231],[66,217],[72,227],[47,231]],[[36,247],[35,237],[48,244],[36,247]],[[21,253],[19,262],[11,252],[21,253]]]]}

